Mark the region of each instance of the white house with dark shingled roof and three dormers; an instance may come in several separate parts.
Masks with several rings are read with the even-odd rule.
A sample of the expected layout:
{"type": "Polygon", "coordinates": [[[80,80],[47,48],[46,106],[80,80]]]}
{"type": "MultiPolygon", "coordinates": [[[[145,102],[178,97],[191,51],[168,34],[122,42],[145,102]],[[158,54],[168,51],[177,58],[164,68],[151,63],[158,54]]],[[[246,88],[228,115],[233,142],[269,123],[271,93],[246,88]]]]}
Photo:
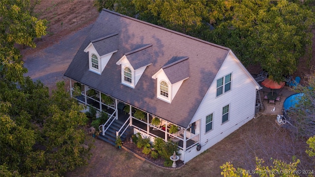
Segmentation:
{"type": "Polygon", "coordinates": [[[109,115],[101,136],[115,125],[171,139],[184,162],[251,120],[261,89],[229,48],[106,9],[64,75],[82,86],[79,102],[109,115]]]}

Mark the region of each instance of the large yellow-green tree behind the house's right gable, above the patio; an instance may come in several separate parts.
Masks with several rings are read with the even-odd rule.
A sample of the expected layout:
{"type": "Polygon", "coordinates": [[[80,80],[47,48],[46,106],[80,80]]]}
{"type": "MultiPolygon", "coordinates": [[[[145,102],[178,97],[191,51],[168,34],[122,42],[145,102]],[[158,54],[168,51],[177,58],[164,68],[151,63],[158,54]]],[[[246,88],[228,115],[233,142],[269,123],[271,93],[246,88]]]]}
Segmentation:
{"type": "Polygon", "coordinates": [[[301,57],[311,59],[314,13],[287,0],[234,3],[231,19],[208,31],[245,64],[260,64],[275,81],[293,74],[301,57]],[[224,36],[222,38],[222,36],[224,36]],[[224,41],[222,41],[224,39],[224,41]]]}

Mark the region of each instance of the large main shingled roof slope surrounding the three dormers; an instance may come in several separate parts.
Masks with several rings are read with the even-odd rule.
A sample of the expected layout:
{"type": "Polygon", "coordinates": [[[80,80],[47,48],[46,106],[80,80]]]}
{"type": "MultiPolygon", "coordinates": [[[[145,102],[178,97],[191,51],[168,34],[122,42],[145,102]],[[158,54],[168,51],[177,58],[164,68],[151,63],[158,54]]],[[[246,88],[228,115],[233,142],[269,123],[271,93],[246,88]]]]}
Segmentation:
{"type": "MultiPolygon", "coordinates": [[[[64,75],[187,128],[228,53],[228,48],[103,9],[64,75]],[[117,40],[106,42],[106,45],[111,47],[119,44],[118,52],[112,55],[101,75],[89,71],[89,54],[83,50],[90,41],[113,33],[118,33],[115,35],[117,40]],[[151,50],[148,53],[151,52],[152,64],[147,66],[134,89],[121,84],[121,66],[116,62],[130,51],[148,44],[152,46],[144,51],[151,50]],[[179,72],[177,64],[172,65],[174,61],[170,61],[178,61],[174,56],[189,58],[177,63],[185,67],[189,65],[189,73],[185,73],[189,74],[189,78],[183,82],[170,104],[157,98],[157,80],[152,76],[167,64],[179,72]]],[[[147,57],[142,52],[135,55],[140,60],[147,57]]],[[[167,75],[172,77],[172,82],[178,80],[177,77],[173,78],[176,74],[167,75]]]]}

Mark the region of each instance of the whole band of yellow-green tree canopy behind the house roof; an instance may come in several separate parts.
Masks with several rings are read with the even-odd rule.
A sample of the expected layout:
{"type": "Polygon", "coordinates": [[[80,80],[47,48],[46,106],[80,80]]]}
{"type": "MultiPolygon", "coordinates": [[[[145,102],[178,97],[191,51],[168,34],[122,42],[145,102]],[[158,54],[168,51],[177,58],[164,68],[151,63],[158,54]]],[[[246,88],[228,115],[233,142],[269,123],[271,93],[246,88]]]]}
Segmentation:
{"type": "Polygon", "coordinates": [[[276,81],[312,55],[315,15],[308,1],[96,0],[95,5],[229,47],[245,66],[259,64],[276,81]]]}

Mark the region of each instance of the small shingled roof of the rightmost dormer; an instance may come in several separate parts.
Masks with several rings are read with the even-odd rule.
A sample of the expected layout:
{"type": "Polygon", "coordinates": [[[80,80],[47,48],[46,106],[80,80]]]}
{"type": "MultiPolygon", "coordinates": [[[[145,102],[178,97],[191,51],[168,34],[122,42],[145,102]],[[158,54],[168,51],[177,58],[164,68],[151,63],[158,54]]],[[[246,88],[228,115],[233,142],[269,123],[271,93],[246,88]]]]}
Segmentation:
{"type": "Polygon", "coordinates": [[[171,84],[189,77],[189,60],[188,57],[173,57],[172,63],[164,65],[163,71],[171,84]]]}

